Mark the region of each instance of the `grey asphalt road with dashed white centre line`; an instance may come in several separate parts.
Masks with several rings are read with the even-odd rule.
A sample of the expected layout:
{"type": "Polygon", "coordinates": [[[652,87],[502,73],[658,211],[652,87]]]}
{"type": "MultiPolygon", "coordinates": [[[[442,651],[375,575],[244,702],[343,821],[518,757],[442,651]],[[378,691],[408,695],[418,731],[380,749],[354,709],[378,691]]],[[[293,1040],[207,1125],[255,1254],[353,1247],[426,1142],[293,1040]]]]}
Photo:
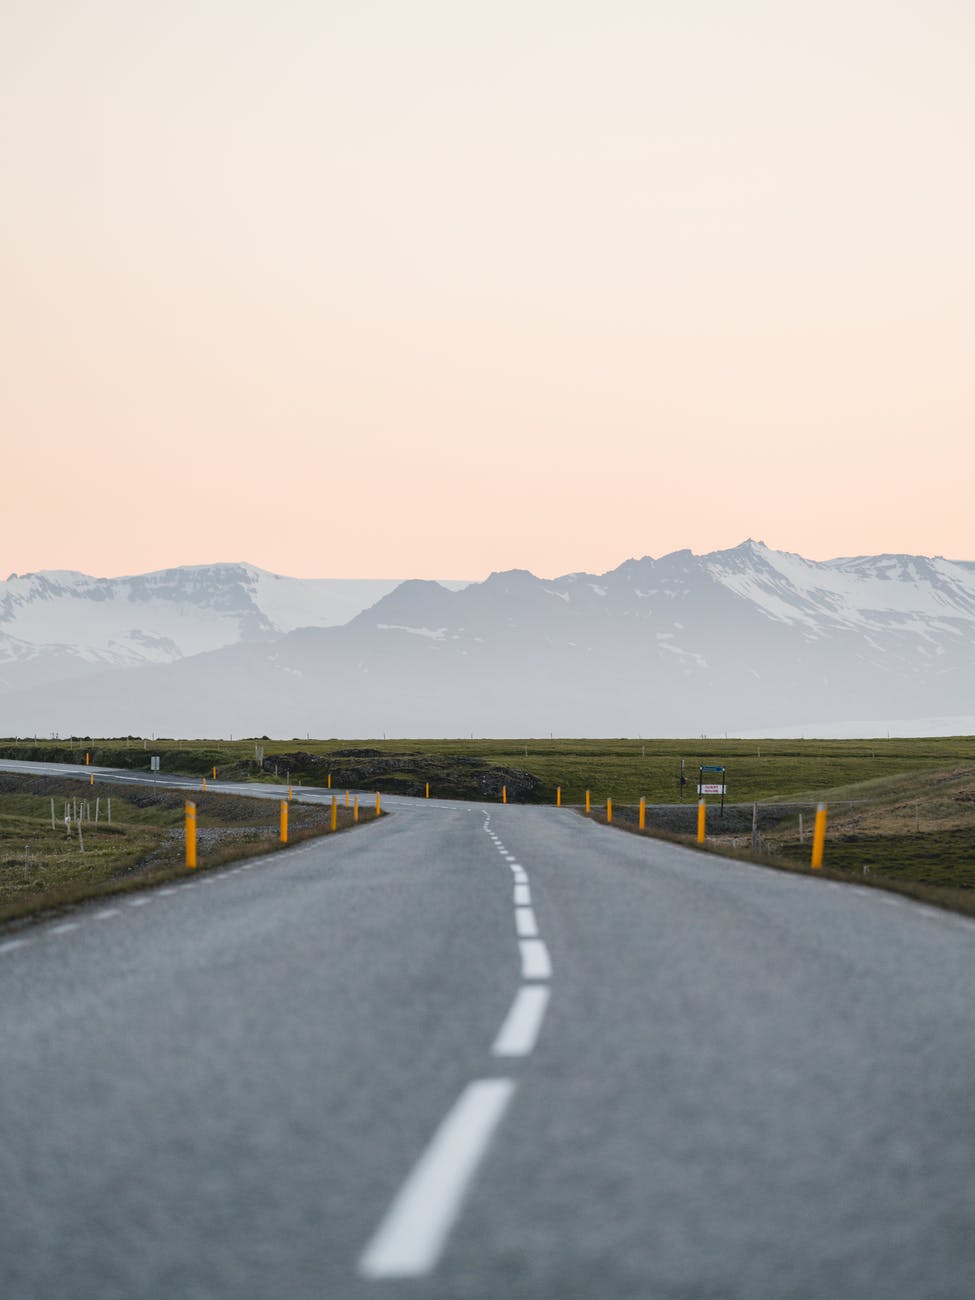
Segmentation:
{"type": "Polygon", "coordinates": [[[975,1295],[975,926],[385,806],[0,931],[4,1300],[975,1295]]]}

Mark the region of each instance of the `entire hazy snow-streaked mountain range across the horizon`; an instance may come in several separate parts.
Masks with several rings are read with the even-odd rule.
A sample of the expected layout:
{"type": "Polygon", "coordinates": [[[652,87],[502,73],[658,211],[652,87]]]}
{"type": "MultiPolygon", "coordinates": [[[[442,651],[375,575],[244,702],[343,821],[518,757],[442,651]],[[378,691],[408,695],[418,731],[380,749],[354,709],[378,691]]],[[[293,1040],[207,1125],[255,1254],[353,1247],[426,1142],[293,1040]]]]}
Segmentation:
{"type": "Polygon", "coordinates": [[[892,719],[975,727],[975,563],[748,541],[467,585],[247,564],[0,584],[3,734],[883,734],[892,719]]]}

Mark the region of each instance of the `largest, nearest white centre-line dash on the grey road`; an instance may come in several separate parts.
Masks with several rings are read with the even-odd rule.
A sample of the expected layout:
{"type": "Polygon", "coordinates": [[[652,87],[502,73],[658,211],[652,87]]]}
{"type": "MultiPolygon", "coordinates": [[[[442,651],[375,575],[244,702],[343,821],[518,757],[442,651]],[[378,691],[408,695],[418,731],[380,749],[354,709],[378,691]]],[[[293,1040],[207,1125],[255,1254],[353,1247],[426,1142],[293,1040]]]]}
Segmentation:
{"type": "Polygon", "coordinates": [[[514,1079],[474,1079],[464,1088],[365,1247],[361,1277],[421,1278],[437,1266],[514,1095],[514,1079]]]}

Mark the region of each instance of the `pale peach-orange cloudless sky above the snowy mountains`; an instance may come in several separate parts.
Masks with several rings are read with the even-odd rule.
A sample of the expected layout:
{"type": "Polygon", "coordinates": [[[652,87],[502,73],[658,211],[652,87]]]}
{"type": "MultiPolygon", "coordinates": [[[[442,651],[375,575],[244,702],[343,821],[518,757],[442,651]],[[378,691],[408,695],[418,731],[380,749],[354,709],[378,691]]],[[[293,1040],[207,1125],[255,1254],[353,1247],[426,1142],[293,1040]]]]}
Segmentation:
{"type": "Polygon", "coordinates": [[[0,576],[975,559],[968,0],[4,0],[0,576]]]}

